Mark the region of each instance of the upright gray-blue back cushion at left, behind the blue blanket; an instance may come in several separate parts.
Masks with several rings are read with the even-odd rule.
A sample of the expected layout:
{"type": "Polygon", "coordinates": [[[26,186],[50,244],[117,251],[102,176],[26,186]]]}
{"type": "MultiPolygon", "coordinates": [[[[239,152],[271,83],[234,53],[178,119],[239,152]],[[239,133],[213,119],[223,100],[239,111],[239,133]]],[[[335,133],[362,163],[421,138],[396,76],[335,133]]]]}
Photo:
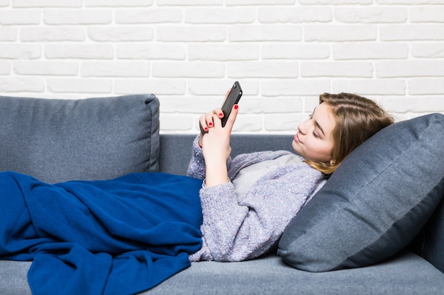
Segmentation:
{"type": "Polygon", "coordinates": [[[0,96],[0,125],[0,170],[56,183],[158,169],[159,101],[154,95],[0,96]]]}

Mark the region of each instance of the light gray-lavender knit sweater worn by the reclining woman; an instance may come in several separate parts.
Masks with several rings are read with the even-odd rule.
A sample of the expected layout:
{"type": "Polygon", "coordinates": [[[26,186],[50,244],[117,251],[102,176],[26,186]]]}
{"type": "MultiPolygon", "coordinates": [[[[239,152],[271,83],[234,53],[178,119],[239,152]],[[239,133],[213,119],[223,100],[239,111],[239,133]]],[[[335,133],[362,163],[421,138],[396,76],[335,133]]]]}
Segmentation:
{"type": "MultiPolygon", "coordinates": [[[[228,158],[228,178],[234,180],[245,167],[288,154],[264,151],[228,158]]],[[[188,175],[204,179],[205,170],[196,138],[188,175]]],[[[203,245],[189,260],[241,261],[274,250],[285,227],[325,182],[321,172],[299,162],[270,170],[243,195],[235,194],[231,182],[203,187],[203,245]]]]}

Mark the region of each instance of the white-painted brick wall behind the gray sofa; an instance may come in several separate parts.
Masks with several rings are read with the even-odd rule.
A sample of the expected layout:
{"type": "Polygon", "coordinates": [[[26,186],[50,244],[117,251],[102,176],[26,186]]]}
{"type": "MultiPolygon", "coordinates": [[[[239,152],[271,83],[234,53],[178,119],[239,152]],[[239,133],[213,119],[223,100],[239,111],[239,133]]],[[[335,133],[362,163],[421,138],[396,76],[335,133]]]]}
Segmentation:
{"type": "Polygon", "coordinates": [[[323,92],[444,113],[444,0],[0,0],[1,96],[155,93],[196,133],[235,80],[235,132],[293,133],[323,92]]]}

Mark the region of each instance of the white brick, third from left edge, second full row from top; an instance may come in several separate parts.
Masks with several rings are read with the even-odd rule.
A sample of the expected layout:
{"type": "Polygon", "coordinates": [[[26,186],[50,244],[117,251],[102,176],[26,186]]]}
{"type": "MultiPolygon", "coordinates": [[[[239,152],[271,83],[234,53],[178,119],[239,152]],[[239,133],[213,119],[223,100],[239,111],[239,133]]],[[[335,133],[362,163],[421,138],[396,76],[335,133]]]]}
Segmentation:
{"type": "Polygon", "coordinates": [[[100,42],[150,41],[154,38],[154,29],[147,27],[112,27],[88,28],[91,40],[100,42]]]}

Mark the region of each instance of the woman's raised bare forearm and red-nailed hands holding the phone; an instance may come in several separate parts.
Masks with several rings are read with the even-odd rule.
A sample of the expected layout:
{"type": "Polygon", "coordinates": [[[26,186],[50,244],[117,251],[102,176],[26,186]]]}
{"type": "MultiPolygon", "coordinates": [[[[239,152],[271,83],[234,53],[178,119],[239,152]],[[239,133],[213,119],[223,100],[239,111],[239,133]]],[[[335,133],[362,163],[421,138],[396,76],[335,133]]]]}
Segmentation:
{"type": "Polygon", "coordinates": [[[207,112],[199,119],[199,145],[205,159],[207,187],[226,183],[228,179],[226,161],[231,154],[231,130],[237,115],[238,105],[234,105],[225,127],[222,127],[223,112],[220,108],[207,112]]]}

